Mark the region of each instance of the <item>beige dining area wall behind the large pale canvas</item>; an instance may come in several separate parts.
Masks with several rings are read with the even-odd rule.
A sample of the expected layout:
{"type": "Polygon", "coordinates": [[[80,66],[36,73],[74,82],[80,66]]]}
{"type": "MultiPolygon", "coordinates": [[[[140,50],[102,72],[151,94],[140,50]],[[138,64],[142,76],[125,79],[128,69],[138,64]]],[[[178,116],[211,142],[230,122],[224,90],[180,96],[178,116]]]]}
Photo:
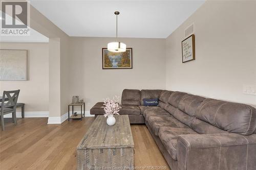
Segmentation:
{"type": "Polygon", "coordinates": [[[0,48],[28,50],[29,66],[29,80],[0,81],[0,95],[4,90],[20,89],[18,102],[26,104],[26,112],[49,111],[48,43],[1,42],[0,48]]]}

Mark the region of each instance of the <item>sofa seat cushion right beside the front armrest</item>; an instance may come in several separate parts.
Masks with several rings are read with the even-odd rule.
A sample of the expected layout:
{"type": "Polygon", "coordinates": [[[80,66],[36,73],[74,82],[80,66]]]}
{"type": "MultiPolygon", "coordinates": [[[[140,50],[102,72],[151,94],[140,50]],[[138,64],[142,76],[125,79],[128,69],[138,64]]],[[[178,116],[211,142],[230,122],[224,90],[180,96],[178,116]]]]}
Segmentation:
{"type": "Polygon", "coordinates": [[[189,128],[160,127],[159,129],[159,138],[174,160],[177,160],[177,138],[186,134],[197,134],[197,132],[189,128]]]}

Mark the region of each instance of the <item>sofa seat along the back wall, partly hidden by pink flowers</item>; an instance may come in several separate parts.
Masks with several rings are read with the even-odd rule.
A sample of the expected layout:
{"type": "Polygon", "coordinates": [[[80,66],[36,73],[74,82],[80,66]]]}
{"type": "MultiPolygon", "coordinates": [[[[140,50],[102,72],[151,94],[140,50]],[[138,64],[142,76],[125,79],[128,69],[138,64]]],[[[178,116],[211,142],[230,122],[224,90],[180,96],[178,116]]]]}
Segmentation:
{"type": "MultiPolygon", "coordinates": [[[[96,103],[90,110],[90,114],[104,114],[103,102],[96,103]]],[[[138,106],[129,106],[129,105],[120,105],[121,109],[118,112],[119,114],[128,114],[128,115],[140,115],[140,109],[138,106]]]]}

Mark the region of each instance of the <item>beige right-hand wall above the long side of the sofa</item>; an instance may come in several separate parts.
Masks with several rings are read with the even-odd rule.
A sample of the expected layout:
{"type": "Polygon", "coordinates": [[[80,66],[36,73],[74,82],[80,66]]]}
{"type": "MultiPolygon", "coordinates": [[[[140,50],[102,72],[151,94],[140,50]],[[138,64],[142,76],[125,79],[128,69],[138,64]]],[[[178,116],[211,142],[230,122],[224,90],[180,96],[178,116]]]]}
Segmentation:
{"type": "Polygon", "coordinates": [[[206,1],[166,39],[166,89],[256,105],[256,1],[206,1]],[[195,23],[196,60],[182,63],[184,29],[195,23]]]}

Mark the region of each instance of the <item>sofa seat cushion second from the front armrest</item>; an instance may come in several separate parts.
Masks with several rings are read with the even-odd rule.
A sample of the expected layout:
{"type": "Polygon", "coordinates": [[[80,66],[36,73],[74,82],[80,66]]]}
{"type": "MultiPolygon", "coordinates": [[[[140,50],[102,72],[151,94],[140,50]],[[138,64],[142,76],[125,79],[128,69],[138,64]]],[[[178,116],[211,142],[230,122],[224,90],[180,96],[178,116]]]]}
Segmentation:
{"type": "Polygon", "coordinates": [[[151,127],[151,129],[157,136],[160,127],[189,128],[172,115],[149,116],[148,125],[151,127]]]}

